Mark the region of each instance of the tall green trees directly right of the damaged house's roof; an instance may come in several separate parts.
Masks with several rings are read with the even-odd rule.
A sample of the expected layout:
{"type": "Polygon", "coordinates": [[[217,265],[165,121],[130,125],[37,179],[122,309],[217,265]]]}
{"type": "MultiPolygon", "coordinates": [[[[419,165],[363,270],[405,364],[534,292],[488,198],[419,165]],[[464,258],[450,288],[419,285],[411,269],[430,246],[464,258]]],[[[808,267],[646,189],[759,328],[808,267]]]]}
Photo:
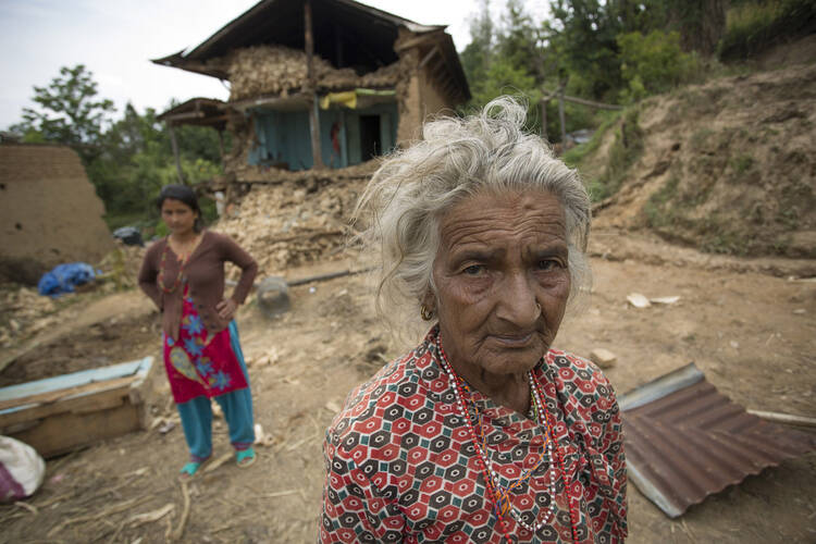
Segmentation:
{"type": "MultiPolygon", "coordinates": [[[[461,54],[473,96],[469,109],[498,95],[522,95],[530,103],[530,128],[558,141],[558,102],[553,99],[557,91],[631,103],[669,90],[695,74],[697,60],[682,50],[683,36],[700,26],[697,15],[714,11],[712,2],[681,3],[552,0],[549,20],[536,23],[521,0],[508,0],[500,22],[494,24],[483,0],[471,24],[471,42],[461,54]],[[540,103],[544,97],[545,111],[540,103]],[[541,126],[544,113],[546,127],[541,126]]],[[[716,7],[721,3],[714,0],[716,7]]],[[[717,35],[712,24],[706,29],[717,35]]],[[[564,109],[567,133],[597,126],[605,119],[585,106],[566,103],[564,109]]]]}

